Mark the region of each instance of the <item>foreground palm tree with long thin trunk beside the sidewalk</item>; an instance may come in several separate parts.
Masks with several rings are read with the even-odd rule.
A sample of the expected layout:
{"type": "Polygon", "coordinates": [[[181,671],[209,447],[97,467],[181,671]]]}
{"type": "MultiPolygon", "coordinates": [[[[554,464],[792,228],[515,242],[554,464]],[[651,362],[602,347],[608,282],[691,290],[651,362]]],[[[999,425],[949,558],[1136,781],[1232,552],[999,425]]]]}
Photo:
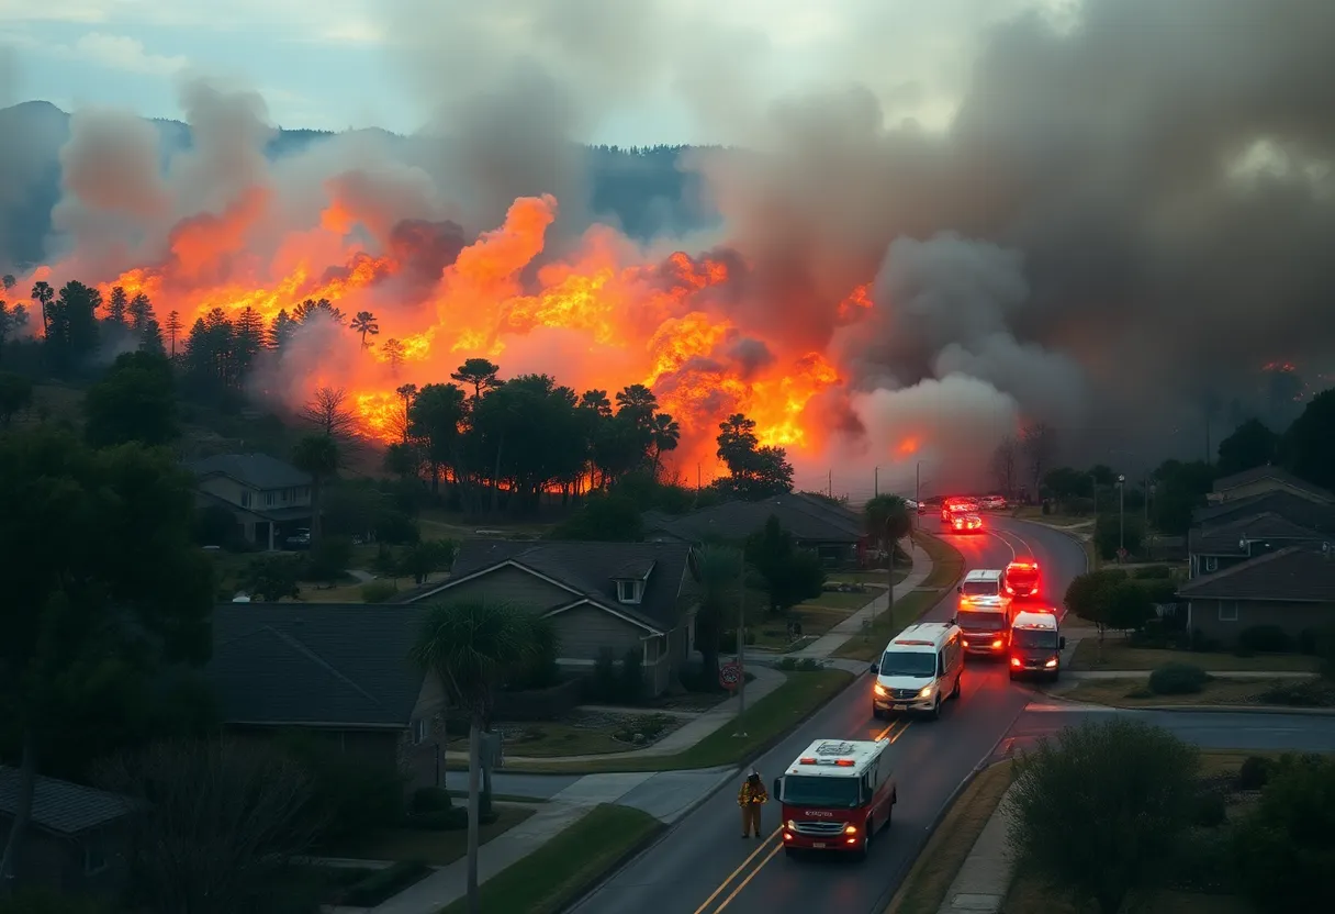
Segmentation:
{"type": "Polygon", "coordinates": [[[433,607],[411,659],[441,679],[449,700],[469,715],[469,914],[478,898],[482,728],[503,676],[555,647],[550,624],[517,607],[461,601],[433,607]]]}

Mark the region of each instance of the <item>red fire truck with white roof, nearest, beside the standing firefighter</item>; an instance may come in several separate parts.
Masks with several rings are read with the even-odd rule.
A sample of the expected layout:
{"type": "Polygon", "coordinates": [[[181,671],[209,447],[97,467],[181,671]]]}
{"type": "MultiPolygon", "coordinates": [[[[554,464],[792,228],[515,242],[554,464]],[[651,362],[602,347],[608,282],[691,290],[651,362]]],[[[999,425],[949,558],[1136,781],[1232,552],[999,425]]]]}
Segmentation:
{"type": "Polygon", "coordinates": [[[818,739],[774,779],[785,853],[830,850],[866,858],[898,800],[889,746],[889,739],[818,739]]]}

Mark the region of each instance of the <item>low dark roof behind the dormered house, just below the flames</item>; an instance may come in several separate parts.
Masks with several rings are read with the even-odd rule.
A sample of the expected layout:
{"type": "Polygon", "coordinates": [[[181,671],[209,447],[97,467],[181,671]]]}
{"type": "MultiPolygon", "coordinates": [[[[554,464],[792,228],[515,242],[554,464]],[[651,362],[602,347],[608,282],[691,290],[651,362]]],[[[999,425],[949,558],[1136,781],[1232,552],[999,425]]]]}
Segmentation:
{"type": "Polygon", "coordinates": [[[646,533],[662,532],[702,543],[710,539],[742,540],[765,526],[770,514],[789,533],[805,543],[857,543],[862,520],[846,508],[828,505],[804,494],[781,494],[762,501],[728,501],[682,517],[657,521],[646,533]]]}

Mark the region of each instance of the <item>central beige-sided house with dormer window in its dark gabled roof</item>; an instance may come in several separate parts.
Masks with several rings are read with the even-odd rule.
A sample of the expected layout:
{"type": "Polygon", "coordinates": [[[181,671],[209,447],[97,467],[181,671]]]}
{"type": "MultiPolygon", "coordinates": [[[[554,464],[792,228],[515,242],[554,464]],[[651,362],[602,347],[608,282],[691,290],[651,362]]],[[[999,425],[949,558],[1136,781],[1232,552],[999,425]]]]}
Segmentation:
{"type": "Polygon", "coordinates": [[[697,592],[686,543],[467,540],[450,579],[396,603],[489,600],[553,620],[558,664],[590,671],[603,648],[638,651],[659,695],[696,647],[697,592]]]}

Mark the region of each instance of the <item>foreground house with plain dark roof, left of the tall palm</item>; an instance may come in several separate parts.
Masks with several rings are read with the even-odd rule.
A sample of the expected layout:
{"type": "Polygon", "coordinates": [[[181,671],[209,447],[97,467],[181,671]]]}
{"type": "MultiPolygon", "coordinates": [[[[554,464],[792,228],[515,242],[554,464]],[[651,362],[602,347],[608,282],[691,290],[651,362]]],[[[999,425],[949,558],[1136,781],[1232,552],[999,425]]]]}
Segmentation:
{"type": "Polygon", "coordinates": [[[223,723],[239,736],[302,731],[371,764],[434,783],[445,694],[409,659],[425,608],[224,603],[206,668],[223,723]]]}

